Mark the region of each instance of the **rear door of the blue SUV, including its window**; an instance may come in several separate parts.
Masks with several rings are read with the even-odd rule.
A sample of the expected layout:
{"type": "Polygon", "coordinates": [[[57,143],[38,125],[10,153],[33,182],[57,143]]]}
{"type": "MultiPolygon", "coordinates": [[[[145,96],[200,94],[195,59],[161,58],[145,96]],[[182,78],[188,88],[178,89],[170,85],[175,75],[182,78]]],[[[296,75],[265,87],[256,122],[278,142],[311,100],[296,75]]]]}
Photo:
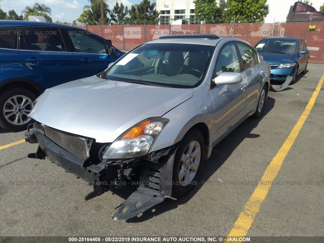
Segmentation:
{"type": "Polygon", "coordinates": [[[20,30],[19,64],[23,76],[43,90],[79,78],[78,67],[55,27],[20,30]]]}

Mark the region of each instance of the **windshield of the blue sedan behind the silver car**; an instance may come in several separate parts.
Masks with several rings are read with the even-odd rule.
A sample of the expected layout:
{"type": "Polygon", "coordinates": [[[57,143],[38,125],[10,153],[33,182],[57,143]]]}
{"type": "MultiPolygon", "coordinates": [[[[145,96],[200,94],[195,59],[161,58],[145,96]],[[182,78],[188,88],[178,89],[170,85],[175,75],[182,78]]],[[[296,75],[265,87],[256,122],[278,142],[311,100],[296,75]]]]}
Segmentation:
{"type": "Polygon", "coordinates": [[[294,54],[297,49],[297,42],[282,41],[278,39],[264,39],[255,48],[258,52],[294,54]]]}

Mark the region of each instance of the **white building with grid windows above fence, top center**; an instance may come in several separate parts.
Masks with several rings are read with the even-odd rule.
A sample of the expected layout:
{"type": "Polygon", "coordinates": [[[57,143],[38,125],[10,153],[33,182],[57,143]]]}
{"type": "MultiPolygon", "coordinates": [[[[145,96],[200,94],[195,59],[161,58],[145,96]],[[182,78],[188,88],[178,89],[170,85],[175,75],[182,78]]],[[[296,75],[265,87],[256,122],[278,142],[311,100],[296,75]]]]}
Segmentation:
{"type": "Polygon", "coordinates": [[[171,24],[182,19],[183,23],[195,23],[193,0],[156,0],[160,24],[171,24]]]}

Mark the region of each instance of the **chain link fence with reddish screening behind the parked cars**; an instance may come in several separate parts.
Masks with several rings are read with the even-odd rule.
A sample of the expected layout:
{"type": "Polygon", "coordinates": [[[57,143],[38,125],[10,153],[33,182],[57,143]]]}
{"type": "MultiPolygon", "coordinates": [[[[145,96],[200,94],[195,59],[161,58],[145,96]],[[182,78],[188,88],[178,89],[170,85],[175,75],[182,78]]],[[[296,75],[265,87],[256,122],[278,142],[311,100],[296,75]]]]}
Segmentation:
{"type": "MultiPolygon", "coordinates": [[[[183,21],[188,23],[188,21],[183,21]]],[[[233,19],[222,23],[195,23],[181,25],[158,25],[147,22],[120,25],[79,25],[106,39],[120,50],[131,50],[134,47],[168,34],[216,34],[220,37],[244,39],[251,45],[257,44],[268,36],[300,37],[307,44],[310,63],[324,63],[324,22],[295,23],[243,23],[233,19]]],[[[190,22],[189,22],[190,23],[190,22]]]]}

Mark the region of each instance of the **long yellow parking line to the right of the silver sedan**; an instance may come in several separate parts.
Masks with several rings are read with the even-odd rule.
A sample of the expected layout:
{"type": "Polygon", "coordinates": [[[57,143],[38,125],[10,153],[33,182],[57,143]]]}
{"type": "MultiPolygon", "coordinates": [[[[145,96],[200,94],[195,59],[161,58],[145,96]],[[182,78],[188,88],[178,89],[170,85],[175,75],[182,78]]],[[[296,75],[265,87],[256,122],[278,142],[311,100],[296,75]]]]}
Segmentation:
{"type": "MultiPolygon", "coordinates": [[[[278,153],[273,157],[271,163],[265,170],[258,186],[255,188],[254,192],[252,193],[252,196],[247,201],[247,203],[244,205],[243,211],[239,214],[238,219],[234,223],[233,228],[228,233],[227,237],[244,237],[247,235],[248,230],[251,228],[251,225],[253,223],[253,220],[256,216],[256,214],[260,210],[260,206],[265,199],[265,197],[268,194],[268,191],[271,187],[272,182],[276,178],[282,162],[284,161],[286,155],[288,154],[290,148],[294,144],[301,128],[303,127],[306,118],[308,117],[311,109],[313,108],[315,104],[315,100],[318,96],[318,93],[320,91],[320,88],[324,82],[324,74],[321,76],[319,83],[313,92],[312,97],[310,98],[305,110],[299,117],[295,127],[289,134],[288,138],[282,144],[281,148],[279,149],[278,153]],[[261,182],[268,182],[268,183],[261,183],[261,182]]],[[[235,241],[236,242],[236,241],[235,241]]]]}

